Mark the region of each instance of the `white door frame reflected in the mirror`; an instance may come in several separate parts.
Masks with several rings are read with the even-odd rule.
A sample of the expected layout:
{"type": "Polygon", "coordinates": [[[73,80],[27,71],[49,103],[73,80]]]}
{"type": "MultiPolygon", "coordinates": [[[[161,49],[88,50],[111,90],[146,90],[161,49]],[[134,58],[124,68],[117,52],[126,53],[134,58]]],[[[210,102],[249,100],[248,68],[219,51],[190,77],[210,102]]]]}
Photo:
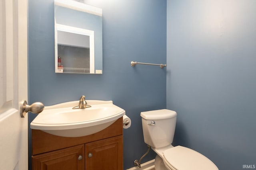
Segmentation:
{"type": "Polygon", "coordinates": [[[94,73],[94,31],[55,23],[55,72],[58,72],[58,31],[87,35],[90,37],[90,73],[94,73]]]}

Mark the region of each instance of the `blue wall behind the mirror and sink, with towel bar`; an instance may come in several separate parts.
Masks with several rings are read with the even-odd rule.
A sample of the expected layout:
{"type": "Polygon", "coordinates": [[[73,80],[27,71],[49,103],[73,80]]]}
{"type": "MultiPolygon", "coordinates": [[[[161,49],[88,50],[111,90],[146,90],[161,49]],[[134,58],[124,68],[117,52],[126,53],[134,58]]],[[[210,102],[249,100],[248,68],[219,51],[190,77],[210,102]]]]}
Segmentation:
{"type": "MultiPolygon", "coordinates": [[[[132,126],[124,130],[124,169],[130,168],[147,150],[140,112],[166,108],[166,68],[130,66],[131,61],[166,63],[166,0],[86,3],[102,8],[102,75],[55,73],[54,0],[28,0],[29,103],[50,106],[81,95],[112,100],[132,119],[132,126]]],[[[34,117],[29,114],[29,123],[34,117]]],[[[30,146],[29,131],[29,153],[30,146]]],[[[142,162],[154,156],[151,150],[142,162]]]]}

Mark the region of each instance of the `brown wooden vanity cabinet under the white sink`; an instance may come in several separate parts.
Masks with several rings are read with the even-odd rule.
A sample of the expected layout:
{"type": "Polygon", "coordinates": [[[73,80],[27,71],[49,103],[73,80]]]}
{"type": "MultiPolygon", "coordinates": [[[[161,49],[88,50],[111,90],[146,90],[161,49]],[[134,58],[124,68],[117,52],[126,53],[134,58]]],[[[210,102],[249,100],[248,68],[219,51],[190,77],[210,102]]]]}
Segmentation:
{"type": "Polygon", "coordinates": [[[32,129],[33,170],[123,170],[122,117],[84,137],[59,137],[32,129]]]}

